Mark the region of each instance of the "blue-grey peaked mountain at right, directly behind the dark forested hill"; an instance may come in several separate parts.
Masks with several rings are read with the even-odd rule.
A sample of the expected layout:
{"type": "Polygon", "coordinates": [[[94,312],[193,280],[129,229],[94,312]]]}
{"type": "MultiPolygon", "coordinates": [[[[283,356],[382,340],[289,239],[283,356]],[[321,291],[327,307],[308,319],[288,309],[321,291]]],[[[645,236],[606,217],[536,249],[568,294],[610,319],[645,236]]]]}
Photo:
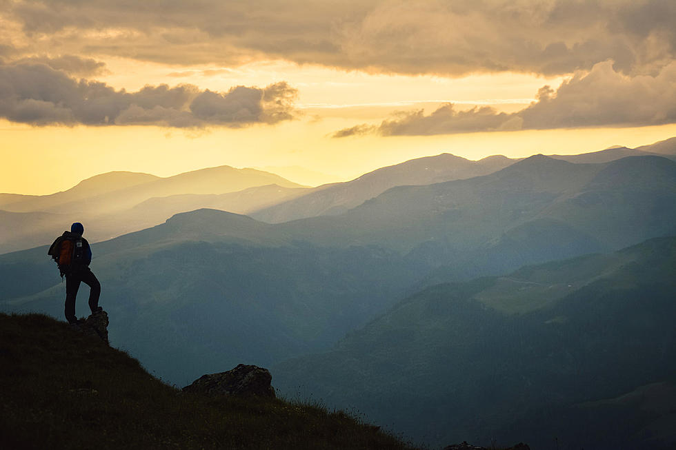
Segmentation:
{"type": "Polygon", "coordinates": [[[280,226],[314,243],[395,249],[465,277],[498,274],[673,234],[675,167],[657,156],[573,164],[537,155],[487,176],[395,187],[340,216],[280,226]]]}

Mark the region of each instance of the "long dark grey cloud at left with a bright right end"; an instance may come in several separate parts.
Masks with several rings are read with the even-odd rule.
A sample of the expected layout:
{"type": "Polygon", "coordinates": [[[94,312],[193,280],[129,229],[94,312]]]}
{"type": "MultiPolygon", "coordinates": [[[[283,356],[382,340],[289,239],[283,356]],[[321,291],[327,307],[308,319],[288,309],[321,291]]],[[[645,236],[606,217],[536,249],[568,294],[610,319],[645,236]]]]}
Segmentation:
{"type": "Polygon", "coordinates": [[[294,118],[296,90],[237,86],[228,92],[195,85],[146,86],[138,92],[76,81],[34,61],[0,65],[0,117],[32,125],[163,125],[241,127],[294,118]]]}

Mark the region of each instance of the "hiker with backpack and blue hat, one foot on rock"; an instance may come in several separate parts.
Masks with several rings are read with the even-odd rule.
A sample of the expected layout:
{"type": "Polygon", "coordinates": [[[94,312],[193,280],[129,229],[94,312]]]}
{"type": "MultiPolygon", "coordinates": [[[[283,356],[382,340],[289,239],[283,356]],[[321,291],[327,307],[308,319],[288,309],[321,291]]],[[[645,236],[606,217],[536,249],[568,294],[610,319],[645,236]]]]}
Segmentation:
{"type": "Polygon", "coordinates": [[[101,284],[92,273],[89,264],[92,262],[92,249],[85,238],[82,237],[84,227],[75,222],[70,226],[70,232],[63,232],[56,238],[47,254],[57,262],[61,278],[66,276],[66,320],[72,325],[77,325],[75,317],[75,296],[80,283],[90,287],[89,308],[92,314],[97,314],[103,309],[99,306],[101,284]]]}

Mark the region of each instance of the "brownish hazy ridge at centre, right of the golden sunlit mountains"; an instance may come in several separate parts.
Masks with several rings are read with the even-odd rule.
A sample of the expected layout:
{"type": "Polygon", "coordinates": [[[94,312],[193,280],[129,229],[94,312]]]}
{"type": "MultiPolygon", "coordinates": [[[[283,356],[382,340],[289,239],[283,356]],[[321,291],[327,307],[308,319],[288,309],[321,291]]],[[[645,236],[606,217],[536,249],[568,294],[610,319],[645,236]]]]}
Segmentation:
{"type": "Polygon", "coordinates": [[[312,192],[252,215],[260,221],[281,223],[299,218],[335,216],[361,205],[369,198],[401,185],[428,185],[442,181],[490,174],[513,163],[505,156],[470,161],[448,153],[412,159],[381,167],[346,183],[315,187],[312,192]]]}

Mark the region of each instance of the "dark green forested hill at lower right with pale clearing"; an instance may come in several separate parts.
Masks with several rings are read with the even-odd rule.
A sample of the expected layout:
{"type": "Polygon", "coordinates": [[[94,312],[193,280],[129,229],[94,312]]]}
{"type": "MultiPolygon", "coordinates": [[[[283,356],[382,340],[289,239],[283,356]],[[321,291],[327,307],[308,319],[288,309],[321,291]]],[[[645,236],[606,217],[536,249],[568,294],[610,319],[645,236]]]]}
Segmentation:
{"type": "Polygon", "coordinates": [[[671,449],[676,237],[435,285],[278,387],[355,407],[419,442],[671,449]],[[662,401],[660,401],[660,398],[662,401]]]}

